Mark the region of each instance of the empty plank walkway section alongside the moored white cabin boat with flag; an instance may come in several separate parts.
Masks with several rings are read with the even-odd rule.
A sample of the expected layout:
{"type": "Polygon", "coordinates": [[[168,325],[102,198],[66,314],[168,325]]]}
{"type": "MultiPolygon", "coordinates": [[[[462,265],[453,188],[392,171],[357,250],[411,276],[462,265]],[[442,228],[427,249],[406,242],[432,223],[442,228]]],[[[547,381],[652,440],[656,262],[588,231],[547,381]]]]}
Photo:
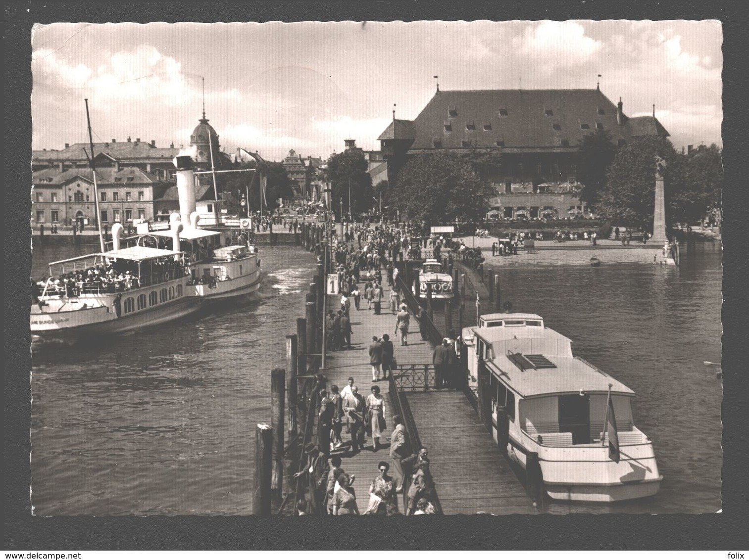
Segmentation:
{"type": "Polygon", "coordinates": [[[462,392],[405,395],[444,514],[538,513],[462,392]]]}

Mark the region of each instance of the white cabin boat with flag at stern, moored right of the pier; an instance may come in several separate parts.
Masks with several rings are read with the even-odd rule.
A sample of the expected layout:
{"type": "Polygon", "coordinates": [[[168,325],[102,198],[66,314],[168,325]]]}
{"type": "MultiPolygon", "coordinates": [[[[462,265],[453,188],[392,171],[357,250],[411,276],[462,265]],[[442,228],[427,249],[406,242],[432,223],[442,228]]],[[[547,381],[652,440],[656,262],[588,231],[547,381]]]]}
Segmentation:
{"type": "Polygon", "coordinates": [[[463,329],[470,379],[488,381],[492,436],[553,499],[617,502],[653,496],[663,477],[634,424],[634,391],[574,356],[536,314],[482,315],[463,329]],[[540,467],[540,469],[538,468],[540,467]]]}

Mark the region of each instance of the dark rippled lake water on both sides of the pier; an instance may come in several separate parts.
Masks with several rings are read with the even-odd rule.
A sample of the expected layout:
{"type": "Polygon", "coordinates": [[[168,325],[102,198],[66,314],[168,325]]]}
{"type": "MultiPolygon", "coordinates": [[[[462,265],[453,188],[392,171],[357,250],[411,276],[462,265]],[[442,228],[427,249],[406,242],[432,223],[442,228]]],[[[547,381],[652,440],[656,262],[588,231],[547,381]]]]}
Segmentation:
{"type": "MultiPolygon", "coordinates": [[[[76,249],[34,251],[33,275],[76,249]]],[[[78,250],[77,254],[88,252],[78,250]]],[[[31,476],[37,515],[246,515],[255,425],[285,367],[315,258],[265,247],[260,297],[131,335],[33,348],[31,476]]],[[[697,513],[721,508],[721,252],[675,267],[500,269],[512,311],[541,314],[573,350],[637,392],[637,426],[664,481],[651,499],[547,511],[697,513]]]]}

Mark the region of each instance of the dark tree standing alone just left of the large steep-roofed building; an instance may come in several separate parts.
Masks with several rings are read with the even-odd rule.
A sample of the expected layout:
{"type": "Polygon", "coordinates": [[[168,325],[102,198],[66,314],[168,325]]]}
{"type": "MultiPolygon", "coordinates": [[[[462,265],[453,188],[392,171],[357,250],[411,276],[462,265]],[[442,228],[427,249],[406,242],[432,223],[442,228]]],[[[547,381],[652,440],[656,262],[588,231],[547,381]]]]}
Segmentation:
{"type": "Polygon", "coordinates": [[[349,150],[330,156],[327,163],[327,179],[333,183],[330,195],[334,211],[342,200],[344,212],[348,213],[349,192],[351,211],[354,214],[372,210],[372,176],[368,171],[369,163],[364,159],[364,153],[359,150],[349,150]]]}

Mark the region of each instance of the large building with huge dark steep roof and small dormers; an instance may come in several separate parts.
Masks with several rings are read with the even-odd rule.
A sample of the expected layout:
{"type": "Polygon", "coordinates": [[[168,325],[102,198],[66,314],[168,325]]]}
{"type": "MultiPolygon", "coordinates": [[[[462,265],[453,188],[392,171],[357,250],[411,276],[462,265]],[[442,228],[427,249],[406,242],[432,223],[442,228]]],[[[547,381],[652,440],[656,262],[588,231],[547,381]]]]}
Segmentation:
{"type": "MultiPolygon", "coordinates": [[[[503,195],[503,216],[541,217],[551,204],[512,205],[514,193],[575,192],[578,150],[596,130],[623,145],[641,136],[669,136],[652,117],[628,117],[599,88],[440,91],[413,121],[395,119],[380,134],[389,179],[419,153],[470,154],[489,162],[482,174],[503,195]],[[494,162],[491,157],[497,156],[494,162]]],[[[525,197],[527,198],[527,197],[525,197]]],[[[562,209],[553,207],[561,215],[562,209]]],[[[567,210],[567,208],[563,209],[567,210]]]]}

